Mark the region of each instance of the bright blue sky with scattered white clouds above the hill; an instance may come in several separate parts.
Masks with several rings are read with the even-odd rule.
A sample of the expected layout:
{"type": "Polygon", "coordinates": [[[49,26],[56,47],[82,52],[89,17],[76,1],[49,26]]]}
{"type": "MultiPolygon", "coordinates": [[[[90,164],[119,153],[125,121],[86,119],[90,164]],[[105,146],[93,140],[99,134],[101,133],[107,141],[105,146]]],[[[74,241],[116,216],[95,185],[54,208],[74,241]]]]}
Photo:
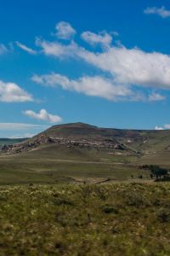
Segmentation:
{"type": "Polygon", "coordinates": [[[170,3],[0,3],[0,137],[85,122],[170,128],[170,3]]]}

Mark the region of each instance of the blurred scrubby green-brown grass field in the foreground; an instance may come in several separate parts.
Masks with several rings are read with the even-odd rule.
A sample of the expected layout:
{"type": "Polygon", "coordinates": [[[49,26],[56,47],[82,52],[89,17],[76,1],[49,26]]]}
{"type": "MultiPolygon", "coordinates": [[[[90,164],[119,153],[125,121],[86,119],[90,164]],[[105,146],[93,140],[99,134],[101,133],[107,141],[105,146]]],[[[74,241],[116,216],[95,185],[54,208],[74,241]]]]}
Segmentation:
{"type": "Polygon", "coordinates": [[[170,184],[0,187],[0,255],[170,255],[170,184]]]}

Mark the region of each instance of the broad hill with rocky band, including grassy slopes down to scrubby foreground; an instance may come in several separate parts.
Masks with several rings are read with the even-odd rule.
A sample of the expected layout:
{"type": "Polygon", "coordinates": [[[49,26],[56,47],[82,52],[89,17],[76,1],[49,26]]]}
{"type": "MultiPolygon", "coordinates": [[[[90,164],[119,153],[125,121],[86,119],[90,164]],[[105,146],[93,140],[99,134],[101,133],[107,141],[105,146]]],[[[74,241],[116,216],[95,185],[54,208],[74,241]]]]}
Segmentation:
{"type": "Polygon", "coordinates": [[[0,183],[150,178],[144,164],[170,168],[170,131],[54,125],[0,151],[0,183]]]}

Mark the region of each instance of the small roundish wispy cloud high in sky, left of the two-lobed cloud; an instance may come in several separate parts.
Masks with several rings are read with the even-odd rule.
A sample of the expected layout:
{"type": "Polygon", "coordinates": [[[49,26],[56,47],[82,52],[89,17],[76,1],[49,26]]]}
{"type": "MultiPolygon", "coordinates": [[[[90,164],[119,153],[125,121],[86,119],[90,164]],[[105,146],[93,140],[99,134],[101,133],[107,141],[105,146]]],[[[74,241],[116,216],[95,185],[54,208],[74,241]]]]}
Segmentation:
{"type": "Polygon", "coordinates": [[[71,39],[77,33],[71,24],[65,21],[60,21],[55,28],[57,30],[55,35],[61,39],[71,39]]]}

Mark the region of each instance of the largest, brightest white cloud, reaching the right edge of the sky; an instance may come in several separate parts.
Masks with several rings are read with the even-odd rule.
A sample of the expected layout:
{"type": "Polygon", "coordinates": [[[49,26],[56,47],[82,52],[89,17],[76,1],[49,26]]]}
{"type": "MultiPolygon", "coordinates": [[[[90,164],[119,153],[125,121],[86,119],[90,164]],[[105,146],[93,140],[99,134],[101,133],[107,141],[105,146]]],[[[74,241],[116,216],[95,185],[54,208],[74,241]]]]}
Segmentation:
{"type": "Polygon", "coordinates": [[[170,89],[169,55],[125,47],[111,47],[102,53],[81,50],[78,55],[89,64],[111,73],[117,84],[170,89]]]}

